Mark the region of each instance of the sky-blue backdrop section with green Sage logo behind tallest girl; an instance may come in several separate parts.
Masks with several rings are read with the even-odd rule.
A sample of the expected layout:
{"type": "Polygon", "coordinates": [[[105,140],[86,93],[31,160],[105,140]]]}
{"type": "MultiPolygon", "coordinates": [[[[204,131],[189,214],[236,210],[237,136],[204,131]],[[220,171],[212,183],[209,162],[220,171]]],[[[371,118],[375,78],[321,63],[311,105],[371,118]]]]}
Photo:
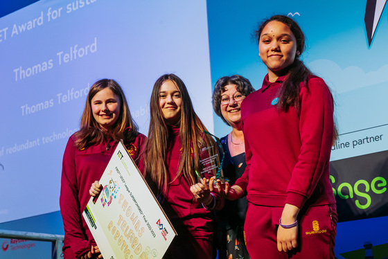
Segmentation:
{"type": "MultiPolygon", "coordinates": [[[[288,15],[305,33],[307,51],[302,60],[332,89],[340,131],[330,163],[340,220],[338,258],[364,258],[366,242],[373,246],[375,258],[388,256],[385,4],[385,0],[207,1],[213,86],[221,76],[238,73],[255,89],[261,88],[267,69],[251,35],[263,19],[288,15]],[[362,257],[354,257],[356,253],[362,257]]],[[[228,134],[231,128],[216,117],[216,134],[228,134]]]]}

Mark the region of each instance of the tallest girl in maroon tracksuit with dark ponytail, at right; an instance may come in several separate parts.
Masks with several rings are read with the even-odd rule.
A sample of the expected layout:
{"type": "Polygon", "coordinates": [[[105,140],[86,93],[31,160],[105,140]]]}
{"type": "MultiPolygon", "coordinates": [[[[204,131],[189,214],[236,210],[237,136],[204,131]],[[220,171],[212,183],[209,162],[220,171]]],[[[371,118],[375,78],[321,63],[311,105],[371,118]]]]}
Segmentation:
{"type": "Polygon", "coordinates": [[[305,42],[294,20],[271,17],[256,37],[268,74],[241,106],[247,168],[218,191],[231,200],[247,194],[251,258],[334,258],[333,97],[299,59],[305,42]]]}

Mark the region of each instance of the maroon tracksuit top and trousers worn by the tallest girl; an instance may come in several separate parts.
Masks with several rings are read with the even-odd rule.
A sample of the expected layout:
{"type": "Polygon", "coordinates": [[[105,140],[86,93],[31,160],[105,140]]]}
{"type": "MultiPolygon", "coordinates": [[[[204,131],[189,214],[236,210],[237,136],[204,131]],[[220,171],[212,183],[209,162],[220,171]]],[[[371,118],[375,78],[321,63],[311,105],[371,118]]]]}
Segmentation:
{"type": "MultiPolygon", "coordinates": [[[[250,205],[257,205],[249,206],[245,222],[252,258],[287,258],[277,257],[277,253],[287,256],[286,253],[276,253],[276,227],[286,203],[301,208],[298,249],[308,249],[305,237],[319,239],[328,235],[324,242],[333,250],[336,213],[328,166],[333,143],[333,98],[324,80],[310,76],[308,86],[300,87],[300,111],[297,113],[294,107],[280,110],[276,107],[276,93],[283,80],[285,76],[272,83],[266,75],[263,87],[247,96],[241,105],[247,168],[236,185],[247,193],[250,205]],[[313,222],[311,209],[315,206],[326,208],[326,217],[317,217],[317,222],[313,222]],[[303,219],[311,214],[310,222],[303,219]]],[[[316,244],[310,249],[317,249],[319,243],[316,244]]],[[[319,258],[314,255],[310,258],[319,258]]]]}

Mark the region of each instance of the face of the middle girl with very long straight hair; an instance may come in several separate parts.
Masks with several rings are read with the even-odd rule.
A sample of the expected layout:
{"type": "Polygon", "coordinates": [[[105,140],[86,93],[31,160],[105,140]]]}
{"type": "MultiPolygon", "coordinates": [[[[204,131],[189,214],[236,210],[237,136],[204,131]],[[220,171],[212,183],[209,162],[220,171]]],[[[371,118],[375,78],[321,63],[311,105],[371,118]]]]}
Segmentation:
{"type": "Polygon", "coordinates": [[[161,84],[159,89],[159,107],[168,124],[175,125],[181,119],[181,93],[175,83],[171,80],[166,80],[161,84]]]}

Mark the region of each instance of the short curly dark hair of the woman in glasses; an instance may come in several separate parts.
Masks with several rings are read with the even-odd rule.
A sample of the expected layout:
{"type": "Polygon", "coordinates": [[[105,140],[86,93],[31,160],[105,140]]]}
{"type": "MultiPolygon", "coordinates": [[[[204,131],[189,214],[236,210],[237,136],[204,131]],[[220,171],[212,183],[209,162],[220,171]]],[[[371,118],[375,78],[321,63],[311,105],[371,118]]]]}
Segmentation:
{"type": "Polygon", "coordinates": [[[249,80],[244,78],[242,75],[223,76],[217,80],[213,91],[213,109],[215,114],[220,116],[220,118],[222,118],[224,123],[227,123],[227,125],[229,125],[229,123],[224,119],[224,116],[222,116],[221,113],[221,95],[225,91],[225,87],[229,84],[236,84],[237,91],[243,94],[243,96],[247,96],[249,93],[255,91],[251,82],[249,82],[249,80]]]}

